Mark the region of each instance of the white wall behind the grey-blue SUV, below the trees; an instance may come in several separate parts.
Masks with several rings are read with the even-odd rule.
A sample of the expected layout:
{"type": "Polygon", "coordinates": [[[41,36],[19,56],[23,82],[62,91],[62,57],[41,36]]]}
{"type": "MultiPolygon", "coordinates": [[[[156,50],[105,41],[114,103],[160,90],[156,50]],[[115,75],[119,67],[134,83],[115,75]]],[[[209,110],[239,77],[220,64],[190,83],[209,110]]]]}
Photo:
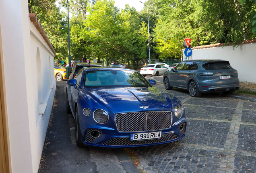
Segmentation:
{"type": "MultiPolygon", "coordinates": [[[[222,59],[228,60],[238,71],[241,82],[256,83],[256,43],[244,44],[233,49],[233,46],[192,49],[189,59],[222,59]],[[242,50],[241,50],[242,49],[242,50]]],[[[185,55],[183,51],[183,60],[185,55]]]]}

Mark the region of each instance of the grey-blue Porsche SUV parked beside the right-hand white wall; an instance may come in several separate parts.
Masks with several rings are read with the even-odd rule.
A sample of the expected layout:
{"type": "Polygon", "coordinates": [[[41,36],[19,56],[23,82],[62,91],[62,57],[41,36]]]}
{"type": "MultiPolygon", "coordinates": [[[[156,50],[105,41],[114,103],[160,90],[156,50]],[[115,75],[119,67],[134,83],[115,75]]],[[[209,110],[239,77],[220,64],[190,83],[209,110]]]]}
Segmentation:
{"type": "Polygon", "coordinates": [[[165,89],[186,89],[192,97],[202,93],[231,94],[239,89],[237,70],[225,60],[186,60],[163,75],[165,89]]]}

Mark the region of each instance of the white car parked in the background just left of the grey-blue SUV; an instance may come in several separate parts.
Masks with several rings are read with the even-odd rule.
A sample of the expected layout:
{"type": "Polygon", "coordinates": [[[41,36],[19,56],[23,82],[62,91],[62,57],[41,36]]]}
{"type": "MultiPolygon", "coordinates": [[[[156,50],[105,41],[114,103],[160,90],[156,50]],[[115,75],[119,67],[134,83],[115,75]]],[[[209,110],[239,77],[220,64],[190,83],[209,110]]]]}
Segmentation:
{"type": "Polygon", "coordinates": [[[160,64],[148,64],[140,69],[140,74],[142,74],[144,77],[147,75],[159,76],[164,74],[167,70],[168,68],[163,67],[160,64]]]}

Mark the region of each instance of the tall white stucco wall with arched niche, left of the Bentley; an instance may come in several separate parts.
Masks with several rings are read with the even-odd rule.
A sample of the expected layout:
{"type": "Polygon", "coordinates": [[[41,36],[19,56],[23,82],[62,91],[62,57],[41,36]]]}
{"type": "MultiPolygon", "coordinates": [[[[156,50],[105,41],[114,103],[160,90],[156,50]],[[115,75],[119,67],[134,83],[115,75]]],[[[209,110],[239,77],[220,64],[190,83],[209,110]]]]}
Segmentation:
{"type": "Polygon", "coordinates": [[[0,21],[11,169],[37,173],[56,89],[54,53],[30,21],[27,1],[0,0],[0,21]],[[39,115],[37,50],[42,102],[47,103],[43,115],[39,115]]]}

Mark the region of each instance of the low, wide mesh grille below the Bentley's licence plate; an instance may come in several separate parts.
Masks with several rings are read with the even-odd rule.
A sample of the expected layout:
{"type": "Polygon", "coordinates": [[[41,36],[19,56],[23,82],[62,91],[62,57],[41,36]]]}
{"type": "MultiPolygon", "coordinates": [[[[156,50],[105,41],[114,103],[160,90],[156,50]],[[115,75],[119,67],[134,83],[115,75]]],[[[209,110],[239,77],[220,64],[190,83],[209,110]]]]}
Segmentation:
{"type": "Polygon", "coordinates": [[[177,139],[178,135],[174,133],[166,133],[163,134],[160,139],[153,139],[153,140],[145,140],[145,141],[131,141],[130,137],[120,137],[120,138],[113,138],[110,139],[101,145],[110,145],[110,146],[120,146],[120,145],[145,145],[145,144],[152,144],[152,143],[161,143],[166,141],[172,141],[177,139]]]}

